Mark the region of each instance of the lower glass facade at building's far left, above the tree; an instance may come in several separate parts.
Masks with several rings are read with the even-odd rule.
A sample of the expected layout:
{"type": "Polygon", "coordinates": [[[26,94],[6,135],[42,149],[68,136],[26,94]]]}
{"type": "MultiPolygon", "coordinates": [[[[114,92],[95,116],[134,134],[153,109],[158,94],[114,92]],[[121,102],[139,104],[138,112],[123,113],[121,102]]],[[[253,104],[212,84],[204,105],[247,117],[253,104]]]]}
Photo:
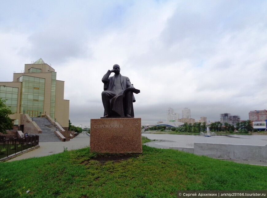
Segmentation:
{"type": "Polygon", "coordinates": [[[0,98],[6,100],[6,106],[10,108],[13,113],[17,113],[17,87],[0,86],[0,98]]]}

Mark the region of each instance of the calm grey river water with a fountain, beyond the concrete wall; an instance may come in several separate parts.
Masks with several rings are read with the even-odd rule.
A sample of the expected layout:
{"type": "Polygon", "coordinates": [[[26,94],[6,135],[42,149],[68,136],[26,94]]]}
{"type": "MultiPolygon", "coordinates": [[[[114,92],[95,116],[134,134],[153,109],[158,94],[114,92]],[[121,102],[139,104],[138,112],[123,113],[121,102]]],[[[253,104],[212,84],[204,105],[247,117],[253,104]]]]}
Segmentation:
{"type": "Polygon", "coordinates": [[[146,134],[151,140],[145,145],[157,148],[174,147],[194,147],[195,142],[199,143],[221,143],[221,144],[247,144],[247,145],[267,145],[267,135],[216,135],[211,137],[197,135],[171,135],[171,134],[146,134]]]}

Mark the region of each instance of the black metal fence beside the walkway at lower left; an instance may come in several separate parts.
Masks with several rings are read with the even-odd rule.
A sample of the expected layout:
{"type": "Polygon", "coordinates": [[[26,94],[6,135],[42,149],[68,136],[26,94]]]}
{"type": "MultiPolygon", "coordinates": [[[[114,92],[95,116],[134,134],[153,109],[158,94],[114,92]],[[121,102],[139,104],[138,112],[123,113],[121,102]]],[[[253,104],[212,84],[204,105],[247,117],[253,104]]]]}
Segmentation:
{"type": "Polygon", "coordinates": [[[39,135],[19,137],[0,136],[0,159],[39,145],[39,135]]]}

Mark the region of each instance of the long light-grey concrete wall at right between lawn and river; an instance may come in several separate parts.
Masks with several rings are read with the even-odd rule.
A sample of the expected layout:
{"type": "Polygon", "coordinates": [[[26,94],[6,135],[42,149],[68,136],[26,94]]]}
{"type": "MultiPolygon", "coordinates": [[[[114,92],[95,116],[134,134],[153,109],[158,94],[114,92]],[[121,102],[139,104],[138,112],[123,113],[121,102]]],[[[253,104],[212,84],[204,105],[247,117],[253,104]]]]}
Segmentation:
{"type": "Polygon", "coordinates": [[[267,145],[194,143],[194,153],[223,159],[267,161],[267,145]]]}

